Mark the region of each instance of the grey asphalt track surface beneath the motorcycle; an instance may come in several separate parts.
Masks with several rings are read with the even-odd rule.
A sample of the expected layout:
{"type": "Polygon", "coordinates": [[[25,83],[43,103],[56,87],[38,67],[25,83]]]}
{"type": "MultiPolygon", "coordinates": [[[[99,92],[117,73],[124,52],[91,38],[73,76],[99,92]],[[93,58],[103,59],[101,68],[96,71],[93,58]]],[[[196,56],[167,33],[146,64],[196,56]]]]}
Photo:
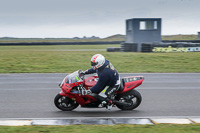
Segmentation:
{"type": "Polygon", "coordinates": [[[66,74],[0,74],[0,118],[200,116],[200,73],[120,74],[130,75],[145,77],[137,88],[143,101],[136,110],[78,107],[63,112],[53,100],[66,74]]]}

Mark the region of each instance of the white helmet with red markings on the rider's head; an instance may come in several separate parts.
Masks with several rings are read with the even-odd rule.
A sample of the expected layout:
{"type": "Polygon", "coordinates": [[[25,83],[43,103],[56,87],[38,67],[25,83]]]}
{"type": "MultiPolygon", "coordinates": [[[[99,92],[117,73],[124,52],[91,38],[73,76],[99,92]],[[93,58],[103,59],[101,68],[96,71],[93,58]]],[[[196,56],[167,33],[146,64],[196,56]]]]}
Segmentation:
{"type": "Polygon", "coordinates": [[[91,66],[94,70],[100,68],[105,63],[105,57],[101,54],[95,54],[91,58],[91,66]]]}

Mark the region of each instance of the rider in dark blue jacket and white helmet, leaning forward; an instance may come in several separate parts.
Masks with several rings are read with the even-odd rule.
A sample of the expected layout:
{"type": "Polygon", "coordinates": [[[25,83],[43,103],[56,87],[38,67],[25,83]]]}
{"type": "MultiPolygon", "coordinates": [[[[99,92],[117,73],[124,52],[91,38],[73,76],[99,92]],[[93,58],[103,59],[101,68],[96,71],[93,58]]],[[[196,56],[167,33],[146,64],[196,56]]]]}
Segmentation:
{"type": "Polygon", "coordinates": [[[91,66],[92,68],[83,71],[82,74],[97,73],[99,80],[95,86],[93,86],[90,90],[86,90],[83,95],[91,93],[99,94],[101,92],[99,94],[100,96],[97,95],[98,100],[104,101],[106,97],[110,99],[112,94],[117,91],[120,86],[119,74],[117,70],[101,54],[95,54],[91,58],[91,66]]]}

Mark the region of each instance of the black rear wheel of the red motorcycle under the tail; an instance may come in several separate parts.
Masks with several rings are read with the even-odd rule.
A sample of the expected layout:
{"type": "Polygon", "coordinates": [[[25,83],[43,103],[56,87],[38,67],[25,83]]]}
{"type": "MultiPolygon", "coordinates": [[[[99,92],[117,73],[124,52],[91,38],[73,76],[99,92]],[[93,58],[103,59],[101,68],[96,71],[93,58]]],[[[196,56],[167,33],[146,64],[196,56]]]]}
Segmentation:
{"type": "Polygon", "coordinates": [[[116,97],[116,100],[118,100],[120,102],[130,103],[130,105],[116,105],[119,109],[121,109],[121,110],[133,110],[140,105],[140,103],[142,101],[142,96],[138,91],[131,90],[127,93],[118,95],[116,97]]]}

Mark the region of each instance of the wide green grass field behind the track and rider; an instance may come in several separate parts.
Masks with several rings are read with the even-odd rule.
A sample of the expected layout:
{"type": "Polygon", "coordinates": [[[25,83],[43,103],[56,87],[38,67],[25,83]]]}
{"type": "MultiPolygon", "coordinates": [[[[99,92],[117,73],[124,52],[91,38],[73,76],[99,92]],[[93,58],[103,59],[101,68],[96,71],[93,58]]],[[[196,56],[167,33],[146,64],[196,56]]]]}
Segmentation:
{"type": "Polygon", "coordinates": [[[0,46],[0,73],[63,73],[90,68],[100,53],[120,72],[200,72],[200,52],[106,52],[120,45],[0,46]]]}

